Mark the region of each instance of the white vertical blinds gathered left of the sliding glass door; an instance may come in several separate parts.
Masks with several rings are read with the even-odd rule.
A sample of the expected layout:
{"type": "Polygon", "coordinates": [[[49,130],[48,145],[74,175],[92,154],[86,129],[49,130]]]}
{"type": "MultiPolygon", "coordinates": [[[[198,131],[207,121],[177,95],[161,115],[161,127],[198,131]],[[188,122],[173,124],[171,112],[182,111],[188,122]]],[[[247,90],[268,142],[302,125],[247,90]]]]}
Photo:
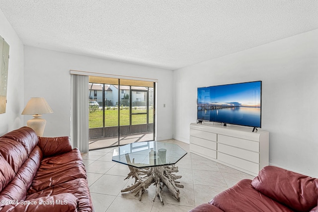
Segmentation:
{"type": "Polygon", "coordinates": [[[71,136],[75,148],[88,152],[88,76],[71,74],[71,136]]]}

